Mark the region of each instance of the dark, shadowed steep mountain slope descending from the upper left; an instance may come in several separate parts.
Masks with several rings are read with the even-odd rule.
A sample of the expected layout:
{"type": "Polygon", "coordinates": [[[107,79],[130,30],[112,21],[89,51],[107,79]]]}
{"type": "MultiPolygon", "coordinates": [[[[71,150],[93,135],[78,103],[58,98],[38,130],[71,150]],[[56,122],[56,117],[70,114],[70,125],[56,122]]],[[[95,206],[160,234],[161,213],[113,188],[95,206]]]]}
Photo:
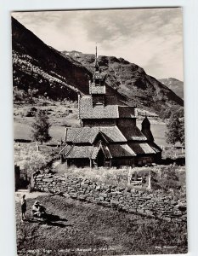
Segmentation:
{"type": "MultiPolygon", "coordinates": [[[[91,77],[88,69],[70,56],[44,44],[14,18],[12,46],[16,100],[19,99],[19,90],[21,98],[48,96],[54,100],[76,100],[78,92],[88,93],[88,80],[91,77]]],[[[108,92],[115,94],[116,90],[108,87],[108,92]]],[[[122,99],[121,96],[118,98],[122,99]]]]}

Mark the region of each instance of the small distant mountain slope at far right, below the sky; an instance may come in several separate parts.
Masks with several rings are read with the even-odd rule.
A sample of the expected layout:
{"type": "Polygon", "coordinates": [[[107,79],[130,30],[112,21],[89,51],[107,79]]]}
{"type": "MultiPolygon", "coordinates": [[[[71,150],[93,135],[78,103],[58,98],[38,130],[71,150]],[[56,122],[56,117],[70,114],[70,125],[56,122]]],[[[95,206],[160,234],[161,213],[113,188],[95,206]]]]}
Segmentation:
{"type": "Polygon", "coordinates": [[[173,90],[180,98],[184,99],[184,82],[178,79],[159,79],[162,84],[165,84],[169,89],[173,90]]]}

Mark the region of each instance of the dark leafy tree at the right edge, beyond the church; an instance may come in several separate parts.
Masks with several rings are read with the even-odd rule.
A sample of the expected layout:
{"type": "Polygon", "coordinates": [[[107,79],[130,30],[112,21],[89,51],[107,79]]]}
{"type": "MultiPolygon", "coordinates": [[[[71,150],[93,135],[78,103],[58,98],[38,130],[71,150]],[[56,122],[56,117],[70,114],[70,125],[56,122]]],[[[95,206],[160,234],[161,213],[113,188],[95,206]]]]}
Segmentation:
{"type": "Polygon", "coordinates": [[[172,113],[167,123],[167,143],[181,143],[184,145],[184,108],[172,113]]]}

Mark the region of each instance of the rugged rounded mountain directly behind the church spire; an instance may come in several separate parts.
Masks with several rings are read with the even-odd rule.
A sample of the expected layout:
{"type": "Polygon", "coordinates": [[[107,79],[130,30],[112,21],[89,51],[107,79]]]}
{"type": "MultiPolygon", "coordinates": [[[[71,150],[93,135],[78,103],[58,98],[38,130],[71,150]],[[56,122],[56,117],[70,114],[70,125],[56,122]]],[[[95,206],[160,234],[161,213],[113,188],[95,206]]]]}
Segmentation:
{"type": "MultiPolygon", "coordinates": [[[[64,51],[66,56],[82,63],[93,73],[94,55],[77,51],[64,51]]],[[[101,72],[106,76],[106,84],[127,97],[130,104],[154,111],[161,109],[161,105],[170,107],[174,104],[183,106],[183,100],[166,85],[147,75],[144,69],[122,58],[114,56],[99,56],[101,72]]]]}

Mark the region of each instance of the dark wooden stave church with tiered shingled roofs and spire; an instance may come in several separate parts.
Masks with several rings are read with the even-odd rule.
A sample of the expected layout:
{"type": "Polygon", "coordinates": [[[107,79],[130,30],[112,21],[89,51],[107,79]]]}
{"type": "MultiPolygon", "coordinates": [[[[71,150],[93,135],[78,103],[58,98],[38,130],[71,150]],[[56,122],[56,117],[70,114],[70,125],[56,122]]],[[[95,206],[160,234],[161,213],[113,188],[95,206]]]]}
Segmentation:
{"type": "Polygon", "coordinates": [[[65,145],[60,159],[66,166],[144,166],[161,160],[161,148],[154,142],[150,121],[145,116],[141,131],[136,125],[136,107],[117,104],[105,94],[97,48],[89,95],[78,96],[81,127],[65,128],[65,145]]]}

